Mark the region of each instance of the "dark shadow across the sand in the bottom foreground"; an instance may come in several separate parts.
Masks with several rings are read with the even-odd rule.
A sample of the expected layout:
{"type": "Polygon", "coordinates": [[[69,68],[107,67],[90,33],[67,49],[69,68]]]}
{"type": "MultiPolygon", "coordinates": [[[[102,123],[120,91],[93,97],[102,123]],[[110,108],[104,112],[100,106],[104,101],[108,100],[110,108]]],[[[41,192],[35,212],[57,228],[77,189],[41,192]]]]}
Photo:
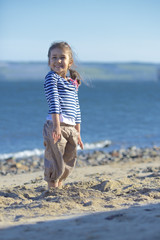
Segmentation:
{"type": "Polygon", "coordinates": [[[0,229],[1,240],[159,240],[160,203],[0,229]]]}

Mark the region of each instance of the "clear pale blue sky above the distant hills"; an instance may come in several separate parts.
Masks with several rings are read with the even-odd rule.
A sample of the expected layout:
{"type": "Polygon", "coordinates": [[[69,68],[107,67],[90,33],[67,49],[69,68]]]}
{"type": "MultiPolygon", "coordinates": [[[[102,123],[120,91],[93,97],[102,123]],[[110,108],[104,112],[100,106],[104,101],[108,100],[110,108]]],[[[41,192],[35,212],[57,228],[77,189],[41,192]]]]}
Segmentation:
{"type": "Polygon", "coordinates": [[[0,0],[0,61],[47,61],[55,41],[78,61],[160,63],[160,0],[0,0]]]}

